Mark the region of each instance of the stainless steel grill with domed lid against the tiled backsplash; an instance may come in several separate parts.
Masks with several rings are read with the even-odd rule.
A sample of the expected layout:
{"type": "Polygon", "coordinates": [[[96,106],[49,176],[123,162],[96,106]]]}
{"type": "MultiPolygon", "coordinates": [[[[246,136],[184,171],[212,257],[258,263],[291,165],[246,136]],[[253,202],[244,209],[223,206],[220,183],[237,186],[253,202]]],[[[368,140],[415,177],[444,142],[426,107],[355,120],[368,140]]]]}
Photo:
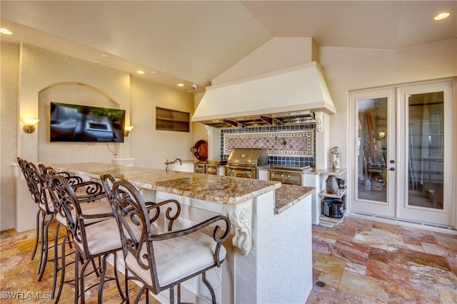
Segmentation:
{"type": "Polygon", "coordinates": [[[257,179],[262,167],[268,167],[265,149],[235,148],[227,159],[226,176],[257,179]]]}

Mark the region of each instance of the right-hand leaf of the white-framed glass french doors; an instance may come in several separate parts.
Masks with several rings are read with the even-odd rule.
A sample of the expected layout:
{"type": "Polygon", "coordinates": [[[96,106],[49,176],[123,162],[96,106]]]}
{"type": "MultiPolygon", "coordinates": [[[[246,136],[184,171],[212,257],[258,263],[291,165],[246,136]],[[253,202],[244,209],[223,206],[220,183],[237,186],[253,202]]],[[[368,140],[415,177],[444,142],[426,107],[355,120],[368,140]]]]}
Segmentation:
{"type": "Polygon", "coordinates": [[[398,121],[398,188],[405,190],[398,194],[397,217],[453,227],[455,82],[398,88],[398,105],[398,112],[404,117],[398,121]]]}

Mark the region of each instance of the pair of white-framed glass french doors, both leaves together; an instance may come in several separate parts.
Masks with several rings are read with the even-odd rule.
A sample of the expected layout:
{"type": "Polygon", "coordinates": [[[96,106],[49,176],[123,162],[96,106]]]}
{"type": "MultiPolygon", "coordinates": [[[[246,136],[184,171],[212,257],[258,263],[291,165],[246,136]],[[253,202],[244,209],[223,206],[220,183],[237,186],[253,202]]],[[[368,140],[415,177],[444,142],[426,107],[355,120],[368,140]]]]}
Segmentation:
{"type": "Polygon", "coordinates": [[[352,212],[454,226],[454,82],[351,93],[352,212]]]}

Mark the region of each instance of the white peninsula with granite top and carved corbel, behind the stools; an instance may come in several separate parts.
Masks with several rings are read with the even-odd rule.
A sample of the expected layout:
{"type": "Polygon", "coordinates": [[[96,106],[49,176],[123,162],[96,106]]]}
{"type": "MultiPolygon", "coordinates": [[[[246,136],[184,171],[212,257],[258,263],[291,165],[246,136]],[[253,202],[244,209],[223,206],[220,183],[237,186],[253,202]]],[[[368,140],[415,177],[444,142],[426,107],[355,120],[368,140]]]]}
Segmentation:
{"type": "MultiPolygon", "coordinates": [[[[53,167],[86,180],[107,173],[126,179],[146,200],[177,199],[183,206],[181,214],[191,222],[214,214],[229,216],[232,238],[225,244],[228,256],[214,275],[208,275],[218,303],[306,302],[312,288],[313,188],[116,164],[53,167]]],[[[206,299],[206,288],[198,284],[189,282],[183,287],[206,299]]],[[[166,301],[167,293],[158,299],[166,301]]]]}

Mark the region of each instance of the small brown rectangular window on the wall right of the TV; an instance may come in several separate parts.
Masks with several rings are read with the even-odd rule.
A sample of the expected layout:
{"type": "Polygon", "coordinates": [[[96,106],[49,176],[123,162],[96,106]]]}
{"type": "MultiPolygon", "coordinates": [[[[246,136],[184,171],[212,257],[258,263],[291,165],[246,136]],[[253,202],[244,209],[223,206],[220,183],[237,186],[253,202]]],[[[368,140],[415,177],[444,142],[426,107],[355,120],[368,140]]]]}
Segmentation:
{"type": "Polygon", "coordinates": [[[191,114],[176,110],[156,107],[156,130],[160,131],[190,131],[191,114]]]}

